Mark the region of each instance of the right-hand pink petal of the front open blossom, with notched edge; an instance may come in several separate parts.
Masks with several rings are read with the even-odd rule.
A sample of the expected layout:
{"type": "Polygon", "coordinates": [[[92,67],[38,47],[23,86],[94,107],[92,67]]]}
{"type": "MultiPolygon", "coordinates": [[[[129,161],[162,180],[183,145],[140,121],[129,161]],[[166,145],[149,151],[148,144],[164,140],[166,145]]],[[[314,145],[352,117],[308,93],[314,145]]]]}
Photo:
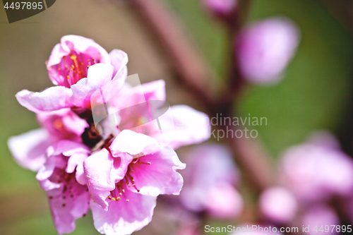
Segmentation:
{"type": "Polygon", "coordinates": [[[145,157],[140,157],[140,162],[133,164],[133,179],[136,188],[141,194],[157,196],[160,194],[179,195],[183,186],[183,177],[177,169],[185,169],[186,165],[180,162],[177,153],[170,147],[163,147],[145,157]],[[150,164],[146,164],[150,162],[150,164]]]}

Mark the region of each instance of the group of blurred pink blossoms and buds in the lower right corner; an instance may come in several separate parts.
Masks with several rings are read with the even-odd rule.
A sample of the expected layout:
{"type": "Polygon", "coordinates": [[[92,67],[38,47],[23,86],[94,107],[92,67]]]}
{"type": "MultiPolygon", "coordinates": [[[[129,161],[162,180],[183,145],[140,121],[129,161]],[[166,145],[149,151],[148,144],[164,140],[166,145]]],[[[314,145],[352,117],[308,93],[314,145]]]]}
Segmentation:
{"type": "Polygon", "coordinates": [[[317,131],[306,143],[289,147],[279,170],[282,187],[261,193],[260,209],[266,219],[275,224],[297,221],[298,226],[310,226],[311,234],[316,226],[340,224],[336,211],[349,207],[353,159],[340,150],[332,134],[317,131]]]}

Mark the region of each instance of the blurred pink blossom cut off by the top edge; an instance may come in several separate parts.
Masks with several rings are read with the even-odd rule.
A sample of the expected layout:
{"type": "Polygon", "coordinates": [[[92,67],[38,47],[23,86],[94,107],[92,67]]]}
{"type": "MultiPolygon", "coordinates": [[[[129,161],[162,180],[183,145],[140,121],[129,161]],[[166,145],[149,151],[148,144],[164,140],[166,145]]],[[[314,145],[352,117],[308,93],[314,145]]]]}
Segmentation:
{"type": "Polygon", "coordinates": [[[237,0],[202,0],[205,8],[215,16],[224,17],[237,8],[237,0]]]}

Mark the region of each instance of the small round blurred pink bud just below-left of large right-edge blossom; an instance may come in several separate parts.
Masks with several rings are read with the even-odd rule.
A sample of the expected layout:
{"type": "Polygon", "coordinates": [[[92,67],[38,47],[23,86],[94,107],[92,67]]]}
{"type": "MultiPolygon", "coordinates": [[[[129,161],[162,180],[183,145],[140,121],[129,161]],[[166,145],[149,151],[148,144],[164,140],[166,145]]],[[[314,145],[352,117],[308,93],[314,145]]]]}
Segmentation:
{"type": "Polygon", "coordinates": [[[297,200],[286,188],[266,189],[260,196],[260,210],[272,222],[285,224],[292,221],[297,212],[297,200]]]}

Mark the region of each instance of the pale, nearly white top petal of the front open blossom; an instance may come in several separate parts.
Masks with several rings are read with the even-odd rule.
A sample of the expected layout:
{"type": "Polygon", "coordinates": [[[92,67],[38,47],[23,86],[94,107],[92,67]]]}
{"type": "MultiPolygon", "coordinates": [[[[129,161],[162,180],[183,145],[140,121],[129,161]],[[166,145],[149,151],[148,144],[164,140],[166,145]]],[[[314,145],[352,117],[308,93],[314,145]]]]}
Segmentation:
{"type": "Polygon", "coordinates": [[[113,155],[119,152],[127,152],[129,155],[138,155],[140,153],[148,154],[155,152],[160,148],[160,145],[157,140],[148,135],[124,130],[119,133],[109,148],[112,150],[113,155]]]}

